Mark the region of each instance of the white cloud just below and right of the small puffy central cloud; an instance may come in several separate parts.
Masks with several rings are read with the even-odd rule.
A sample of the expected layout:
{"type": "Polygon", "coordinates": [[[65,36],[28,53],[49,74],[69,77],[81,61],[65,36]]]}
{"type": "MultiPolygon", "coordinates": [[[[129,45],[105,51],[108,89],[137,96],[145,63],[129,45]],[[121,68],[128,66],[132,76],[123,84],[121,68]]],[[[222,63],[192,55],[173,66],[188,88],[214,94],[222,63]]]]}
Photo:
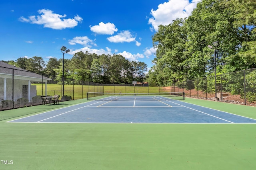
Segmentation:
{"type": "Polygon", "coordinates": [[[136,38],[132,37],[132,34],[130,33],[130,31],[126,30],[126,31],[122,31],[112,37],[108,37],[107,39],[111,43],[123,43],[123,42],[130,43],[132,41],[135,41],[136,38]]]}

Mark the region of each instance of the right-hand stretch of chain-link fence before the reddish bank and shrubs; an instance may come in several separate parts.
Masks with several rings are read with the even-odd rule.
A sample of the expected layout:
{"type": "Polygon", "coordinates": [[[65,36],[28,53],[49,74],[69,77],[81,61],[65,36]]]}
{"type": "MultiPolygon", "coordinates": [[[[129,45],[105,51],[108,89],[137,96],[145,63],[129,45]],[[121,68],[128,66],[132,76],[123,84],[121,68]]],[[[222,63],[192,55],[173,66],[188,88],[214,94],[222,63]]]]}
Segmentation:
{"type": "Polygon", "coordinates": [[[186,97],[256,106],[256,69],[176,82],[172,91],[186,97]],[[216,93],[216,94],[215,94],[216,93]]]}

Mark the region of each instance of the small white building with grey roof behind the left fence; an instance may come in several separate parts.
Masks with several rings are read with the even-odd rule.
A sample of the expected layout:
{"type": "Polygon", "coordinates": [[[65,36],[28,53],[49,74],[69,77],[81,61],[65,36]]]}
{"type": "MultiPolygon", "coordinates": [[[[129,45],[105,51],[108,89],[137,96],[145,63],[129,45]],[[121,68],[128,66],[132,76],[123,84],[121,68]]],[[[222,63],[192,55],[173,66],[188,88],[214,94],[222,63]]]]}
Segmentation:
{"type": "Polygon", "coordinates": [[[51,79],[0,61],[0,102],[15,102],[20,98],[28,99],[30,102],[32,97],[36,96],[36,86],[31,84],[46,83],[48,80],[51,79]]]}

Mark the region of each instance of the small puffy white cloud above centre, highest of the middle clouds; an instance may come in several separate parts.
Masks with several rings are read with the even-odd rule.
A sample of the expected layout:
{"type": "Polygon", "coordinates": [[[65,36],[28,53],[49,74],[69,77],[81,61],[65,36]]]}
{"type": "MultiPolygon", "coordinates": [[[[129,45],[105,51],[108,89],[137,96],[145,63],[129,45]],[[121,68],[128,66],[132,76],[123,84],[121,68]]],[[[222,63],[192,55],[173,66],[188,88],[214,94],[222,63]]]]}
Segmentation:
{"type": "Polygon", "coordinates": [[[99,25],[90,26],[91,31],[97,34],[107,34],[107,35],[113,35],[114,32],[118,31],[114,23],[103,23],[100,22],[99,25]]]}

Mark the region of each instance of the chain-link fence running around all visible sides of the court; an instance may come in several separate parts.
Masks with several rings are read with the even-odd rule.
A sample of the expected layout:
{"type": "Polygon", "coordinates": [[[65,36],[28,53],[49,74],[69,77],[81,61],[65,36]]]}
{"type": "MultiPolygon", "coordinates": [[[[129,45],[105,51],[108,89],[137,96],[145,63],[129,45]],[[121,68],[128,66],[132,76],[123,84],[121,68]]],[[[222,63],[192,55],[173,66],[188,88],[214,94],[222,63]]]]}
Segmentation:
{"type": "MultiPolygon", "coordinates": [[[[0,67],[0,111],[42,104],[40,96],[60,95],[60,101],[85,99],[87,92],[155,93],[185,92],[186,97],[215,100],[215,76],[174,82],[169,87],[148,84],[100,84],[73,78],[38,74],[37,79],[19,75],[20,70],[0,67]],[[17,76],[19,75],[19,76],[17,76]],[[64,83],[63,83],[64,82],[64,83]]],[[[216,76],[218,101],[256,106],[256,69],[216,76]]]]}

